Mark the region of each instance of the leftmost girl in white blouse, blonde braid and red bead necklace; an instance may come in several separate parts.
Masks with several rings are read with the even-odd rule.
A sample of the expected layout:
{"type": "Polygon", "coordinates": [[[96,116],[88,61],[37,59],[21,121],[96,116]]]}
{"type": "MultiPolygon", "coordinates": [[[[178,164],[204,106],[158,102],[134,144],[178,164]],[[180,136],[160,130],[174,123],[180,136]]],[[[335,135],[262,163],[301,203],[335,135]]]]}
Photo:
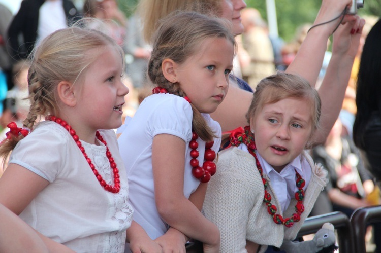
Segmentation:
{"type": "MultiPolygon", "coordinates": [[[[0,178],[0,203],[41,233],[53,252],[123,252],[126,229],[138,231],[130,240],[142,231],[131,224],[127,178],[112,130],[121,125],[129,92],[122,83],[123,55],[96,30],[72,27],[49,35],[29,69],[24,127],[9,124],[0,147],[6,156],[16,146],[0,178]],[[46,121],[36,125],[39,117],[46,121]]],[[[145,239],[143,233],[131,246],[155,246],[140,244],[145,239]]]]}

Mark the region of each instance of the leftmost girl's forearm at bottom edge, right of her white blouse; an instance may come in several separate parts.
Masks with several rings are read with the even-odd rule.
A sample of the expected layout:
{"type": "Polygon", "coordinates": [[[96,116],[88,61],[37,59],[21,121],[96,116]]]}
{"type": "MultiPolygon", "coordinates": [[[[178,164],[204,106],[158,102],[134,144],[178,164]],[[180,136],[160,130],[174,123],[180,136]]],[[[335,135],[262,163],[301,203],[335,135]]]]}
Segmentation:
{"type": "Polygon", "coordinates": [[[132,221],[130,228],[126,231],[126,242],[130,243],[133,253],[140,252],[162,252],[162,248],[153,242],[144,229],[135,221],[132,221]]]}

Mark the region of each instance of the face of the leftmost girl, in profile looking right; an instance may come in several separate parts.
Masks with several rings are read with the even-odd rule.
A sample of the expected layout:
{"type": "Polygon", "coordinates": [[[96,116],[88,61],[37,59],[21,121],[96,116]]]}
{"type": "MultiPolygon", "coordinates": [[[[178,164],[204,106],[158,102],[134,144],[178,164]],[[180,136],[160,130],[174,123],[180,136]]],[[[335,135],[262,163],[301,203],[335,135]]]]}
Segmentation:
{"type": "Polygon", "coordinates": [[[87,68],[83,82],[74,85],[74,91],[81,94],[76,112],[81,114],[84,127],[97,130],[121,125],[124,96],[129,92],[122,82],[123,73],[120,53],[107,46],[87,68]]]}

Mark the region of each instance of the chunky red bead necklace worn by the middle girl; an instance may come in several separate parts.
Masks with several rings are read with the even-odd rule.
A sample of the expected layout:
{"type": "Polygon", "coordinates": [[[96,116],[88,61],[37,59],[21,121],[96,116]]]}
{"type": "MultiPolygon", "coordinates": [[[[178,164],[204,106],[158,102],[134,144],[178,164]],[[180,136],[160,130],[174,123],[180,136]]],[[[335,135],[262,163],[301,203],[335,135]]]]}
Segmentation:
{"type": "MultiPolygon", "coordinates": [[[[159,86],[153,88],[152,94],[158,93],[168,93],[168,90],[159,86]]],[[[184,97],[184,99],[190,103],[188,97],[184,97]]],[[[208,183],[210,177],[214,175],[217,171],[217,167],[213,162],[216,157],[216,154],[215,151],[211,149],[213,147],[214,141],[209,141],[205,143],[205,161],[201,167],[200,162],[197,159],[200,155],[200,152],[197,150],[197,148],[199,147],[199,143],[197,142],[198,138],[199,136],[197,135],[197,133],[192,130],[192,140],[190,140],[189,142],[189,148],[191,149],[190,157],[192,157],[192,159],[189,163],[190,166],[192,166],[192,175],[199,179],[201,183],[208,183]]]]}

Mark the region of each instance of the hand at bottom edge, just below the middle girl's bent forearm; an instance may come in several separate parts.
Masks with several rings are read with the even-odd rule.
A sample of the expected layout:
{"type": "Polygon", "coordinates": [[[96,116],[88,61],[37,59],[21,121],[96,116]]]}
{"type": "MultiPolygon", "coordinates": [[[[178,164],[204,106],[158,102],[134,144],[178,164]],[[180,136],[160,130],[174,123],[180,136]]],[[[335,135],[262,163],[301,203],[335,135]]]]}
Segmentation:
{"type": "Polygon", "coordinates": [[[158,237],[155,242],[162,247],[163,253],[185,253],[185,243],[187,240],[188,238],[183,233],[177,229],[169,228],[169,230],[161,237],[158,237]]]}

